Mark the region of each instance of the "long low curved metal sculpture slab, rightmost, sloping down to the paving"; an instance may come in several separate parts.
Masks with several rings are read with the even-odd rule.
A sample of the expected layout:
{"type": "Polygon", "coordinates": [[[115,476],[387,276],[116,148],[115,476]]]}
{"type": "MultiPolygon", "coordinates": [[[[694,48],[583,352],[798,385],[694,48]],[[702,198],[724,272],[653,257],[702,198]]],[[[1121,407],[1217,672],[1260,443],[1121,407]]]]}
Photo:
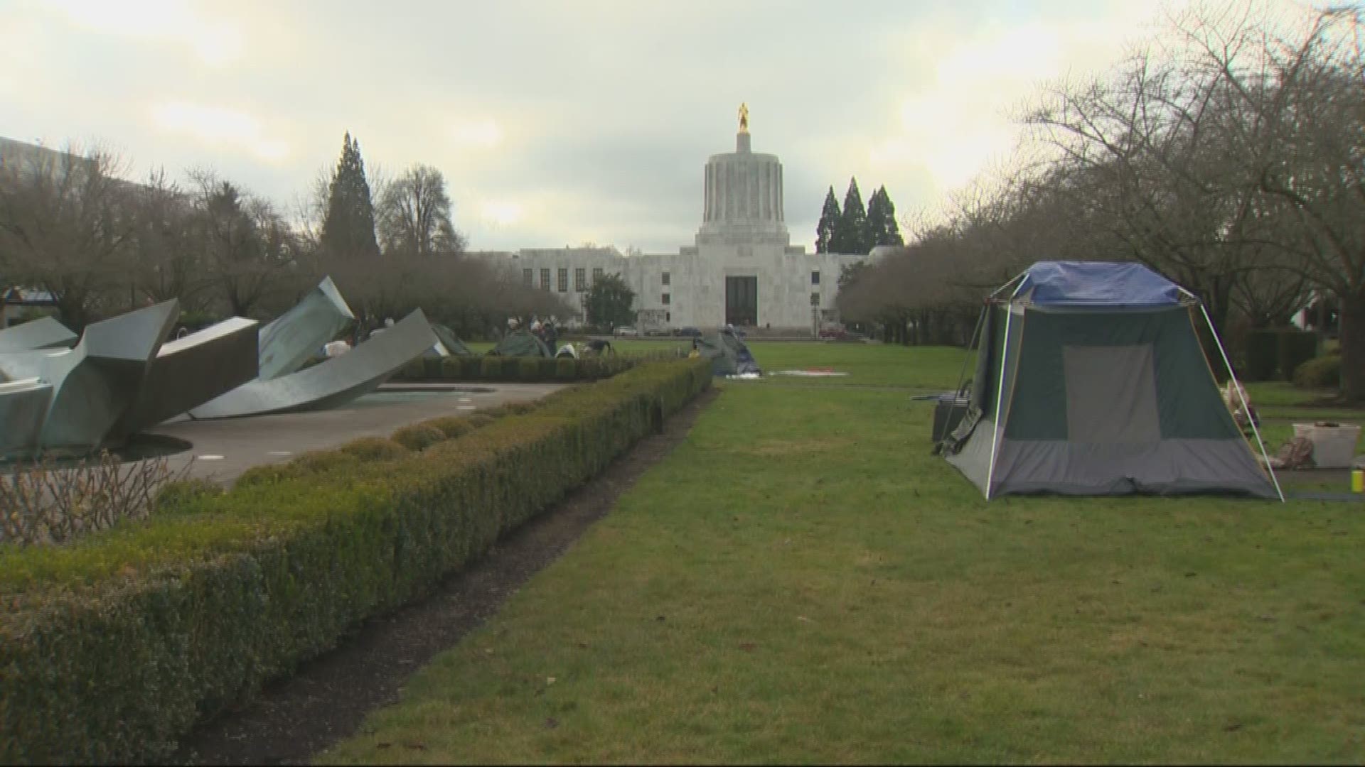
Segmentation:
{"type": "Polygon", "coordinates": [[[337,407],[373,392],[435,343],[419,308],[344,355],[281,378],[258,378],[191,409],[190,416],[236,418],[337,407]]]}

